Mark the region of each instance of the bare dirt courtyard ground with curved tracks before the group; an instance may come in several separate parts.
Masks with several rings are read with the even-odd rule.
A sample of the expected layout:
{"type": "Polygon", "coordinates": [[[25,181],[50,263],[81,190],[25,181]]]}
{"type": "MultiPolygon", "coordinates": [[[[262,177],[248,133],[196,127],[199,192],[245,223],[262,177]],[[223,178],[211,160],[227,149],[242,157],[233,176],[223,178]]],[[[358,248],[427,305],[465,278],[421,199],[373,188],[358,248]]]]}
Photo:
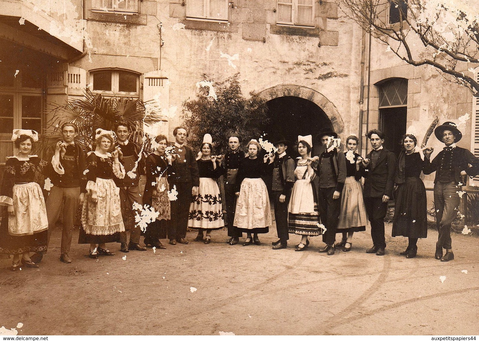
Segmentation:
{"type": "Polygon", "coordinates": [[[74,262],[64,264],[57,227],[39,269],[11,272],[0,259],[0,326],[22,322],[18,335],[478,335],[479,239],[453,235],[455,259],[440,262],[435,231],[415,259],[399,256],[406,238],[386,231],[382,257],[365,253],[367,231],[334,256],[317,252],[320,237],[303,252],[297,235],[272,250],[273,226],[261,246],[229,246],[225,230],[205,245],[189,232],[188,245],[124,254],[112,243],[115,256],[94,260],[77,229],[74,262]]]}

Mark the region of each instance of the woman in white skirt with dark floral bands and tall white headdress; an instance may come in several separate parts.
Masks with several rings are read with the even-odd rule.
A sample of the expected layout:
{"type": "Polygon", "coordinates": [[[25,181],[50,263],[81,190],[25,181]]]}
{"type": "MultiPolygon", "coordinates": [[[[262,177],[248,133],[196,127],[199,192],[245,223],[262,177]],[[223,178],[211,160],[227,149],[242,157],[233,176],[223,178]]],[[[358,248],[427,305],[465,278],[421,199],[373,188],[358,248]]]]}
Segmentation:
{"type": "Polygon", "coordinates": [[[223,205],[217,178],[223,174],[221,159],[211,156],[212,145],[201,144],[201,157],[196,159],[200,173],[198,193],[193,196],[188,215],[188,227],[198,230],[194,239],[199,242],[205,238],[205,244],[211,242],[211,231],[225,226],[223,221],[223,205]],[[206,231],[206,237],[203,236],[206,231]]]}

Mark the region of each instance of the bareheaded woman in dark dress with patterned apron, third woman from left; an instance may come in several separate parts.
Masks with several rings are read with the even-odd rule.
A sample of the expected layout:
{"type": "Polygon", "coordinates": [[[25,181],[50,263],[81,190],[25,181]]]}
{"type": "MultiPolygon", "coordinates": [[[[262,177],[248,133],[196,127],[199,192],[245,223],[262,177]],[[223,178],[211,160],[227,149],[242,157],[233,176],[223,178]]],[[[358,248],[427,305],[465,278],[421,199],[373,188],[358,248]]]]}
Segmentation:
{"type": "Polygon", "coordinates": [[[146,160],[145,191],[143,192],[143,204],[150,205],[159,213],[158,217],[148,223],[145,231],[144,243],[146,246],[165,249],[160,239],[166,238],[168,221],[171,219],[171,205],[168,198],[170,185],[168,184],[168,172],[171,171],[172,155],[166,155],[168,139],[165,135],[158,135],[155,138],[158,143],[156,151],[148,155],[146,160]]]}

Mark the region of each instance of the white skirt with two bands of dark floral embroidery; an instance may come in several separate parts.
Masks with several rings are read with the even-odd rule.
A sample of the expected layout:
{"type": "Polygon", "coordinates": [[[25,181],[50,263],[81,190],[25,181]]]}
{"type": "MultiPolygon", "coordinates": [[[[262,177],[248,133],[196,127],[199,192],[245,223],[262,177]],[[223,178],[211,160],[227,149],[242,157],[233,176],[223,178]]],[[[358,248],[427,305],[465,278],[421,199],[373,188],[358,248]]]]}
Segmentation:
{"type": "Polygon", "coordinates": [[[198,195],[193,197],[188,214],[188,227],[197,230],[217,230],[225,226],[223,205],[217,182],[200,177],[198,195]]]}

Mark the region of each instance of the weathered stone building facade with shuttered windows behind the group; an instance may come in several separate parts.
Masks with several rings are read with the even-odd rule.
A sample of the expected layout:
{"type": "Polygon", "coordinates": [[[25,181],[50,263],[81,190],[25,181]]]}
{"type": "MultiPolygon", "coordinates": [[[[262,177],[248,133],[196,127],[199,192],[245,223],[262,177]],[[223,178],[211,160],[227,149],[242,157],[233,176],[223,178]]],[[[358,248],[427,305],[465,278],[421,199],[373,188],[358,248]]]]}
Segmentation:
{"type": "MultiPolygon", "coordinates": [[[[362,135],[365,153],[365,132],[379,128],[398,151],[407,127],[425,131],[436,115],[455,121],[468,113],[460,145],[479,155],[468,90],[374,40],[369,49],[369,37],[336,2],[0,0],[0,157],[12,152],[11,129],[45,128],[49,105],[87,87],[149,101],[163,121],[147,130],[173,139],[182,102],[194,98],[202,74],[220,81],[237,72],[243,94],[268,100],[272,138],[328,127],[342,139],[362,135]]],[[[433,137],[429,143],[440,147],[433,137]]]]}

